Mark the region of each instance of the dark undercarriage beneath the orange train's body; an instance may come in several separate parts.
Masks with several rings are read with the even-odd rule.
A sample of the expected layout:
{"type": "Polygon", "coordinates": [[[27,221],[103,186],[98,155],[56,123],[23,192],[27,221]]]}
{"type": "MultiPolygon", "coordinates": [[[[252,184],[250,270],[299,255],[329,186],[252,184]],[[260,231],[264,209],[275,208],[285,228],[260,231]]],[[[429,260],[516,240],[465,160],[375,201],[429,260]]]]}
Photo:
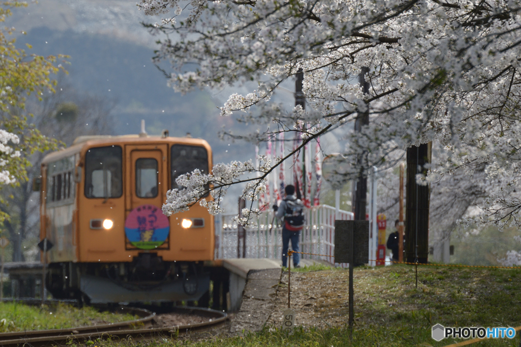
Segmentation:
{"type": "Polygon", "coordinates": [[[141,253],[131,262],[49,264],[45,284],[57,299],[85,303],[207,302],[210,272],[203,262],[141,253]]]}

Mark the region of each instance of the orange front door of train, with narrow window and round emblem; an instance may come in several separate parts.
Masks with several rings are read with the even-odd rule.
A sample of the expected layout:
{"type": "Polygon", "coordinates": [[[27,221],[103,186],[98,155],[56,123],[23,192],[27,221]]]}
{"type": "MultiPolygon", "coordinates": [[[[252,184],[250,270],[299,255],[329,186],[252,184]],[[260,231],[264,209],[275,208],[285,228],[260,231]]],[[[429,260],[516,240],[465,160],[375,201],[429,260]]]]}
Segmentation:
{"type": "Polygon", "coordinates": [[[169,221],[161,210],[168,190],[167,150],[167,145],[126,146],[127,249],[168,247],[169,221]]]}

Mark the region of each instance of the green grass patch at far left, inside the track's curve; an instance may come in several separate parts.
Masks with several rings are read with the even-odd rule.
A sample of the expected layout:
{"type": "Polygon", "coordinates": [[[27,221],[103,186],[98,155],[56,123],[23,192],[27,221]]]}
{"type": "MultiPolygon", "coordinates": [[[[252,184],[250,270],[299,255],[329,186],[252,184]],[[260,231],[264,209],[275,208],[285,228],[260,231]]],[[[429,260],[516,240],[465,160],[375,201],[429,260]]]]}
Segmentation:
{"type": "Polygon", "coordinates": [[[137,319],[130,314],[99,312],[93,307],[56,305],[29,306],[17,302],[0,303],[0,332],[62,329],[137,319]]]}

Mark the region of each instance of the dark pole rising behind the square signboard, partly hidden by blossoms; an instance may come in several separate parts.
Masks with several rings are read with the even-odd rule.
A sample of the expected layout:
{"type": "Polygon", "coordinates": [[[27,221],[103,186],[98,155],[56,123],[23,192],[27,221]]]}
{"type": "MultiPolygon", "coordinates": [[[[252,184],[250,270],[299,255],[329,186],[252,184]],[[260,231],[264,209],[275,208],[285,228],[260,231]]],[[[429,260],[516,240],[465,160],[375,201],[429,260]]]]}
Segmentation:
{"type": "MultiPolygon", "coordinates": [[[[369,94],[369,83],[365,80],[365,75],[369,72],[369,68],[363,67],[362,72],[358,75],[358,82],[364,94],[369,94]]],[[[369,124],[369,105],[364,112],[358,112],[355,121],[355,131],[360,133],[364,125],[369,124]]],[[[362,156],[357,159],[358,165],[363,164],[362,156]]],[[[365,221],[365,206],[367,204],[367,177],[364,176],[364,169],[361,168],[358,173],[358,178],[353,182],[352,190],[352,211],[354,213],[354,220],[365,221]]]]}

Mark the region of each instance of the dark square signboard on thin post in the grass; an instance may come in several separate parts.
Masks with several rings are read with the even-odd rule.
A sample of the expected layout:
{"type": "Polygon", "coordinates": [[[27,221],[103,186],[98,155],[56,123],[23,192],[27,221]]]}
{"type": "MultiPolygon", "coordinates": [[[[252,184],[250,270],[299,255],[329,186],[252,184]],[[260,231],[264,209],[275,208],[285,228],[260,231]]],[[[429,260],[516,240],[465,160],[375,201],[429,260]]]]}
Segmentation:
{"type": "Polygon", "coordinates": [[[334,262],[351,262],[349,247],[351,240],[353,240],[354,264],[367,264],[369,221],[334,221],[334,262]]]}

